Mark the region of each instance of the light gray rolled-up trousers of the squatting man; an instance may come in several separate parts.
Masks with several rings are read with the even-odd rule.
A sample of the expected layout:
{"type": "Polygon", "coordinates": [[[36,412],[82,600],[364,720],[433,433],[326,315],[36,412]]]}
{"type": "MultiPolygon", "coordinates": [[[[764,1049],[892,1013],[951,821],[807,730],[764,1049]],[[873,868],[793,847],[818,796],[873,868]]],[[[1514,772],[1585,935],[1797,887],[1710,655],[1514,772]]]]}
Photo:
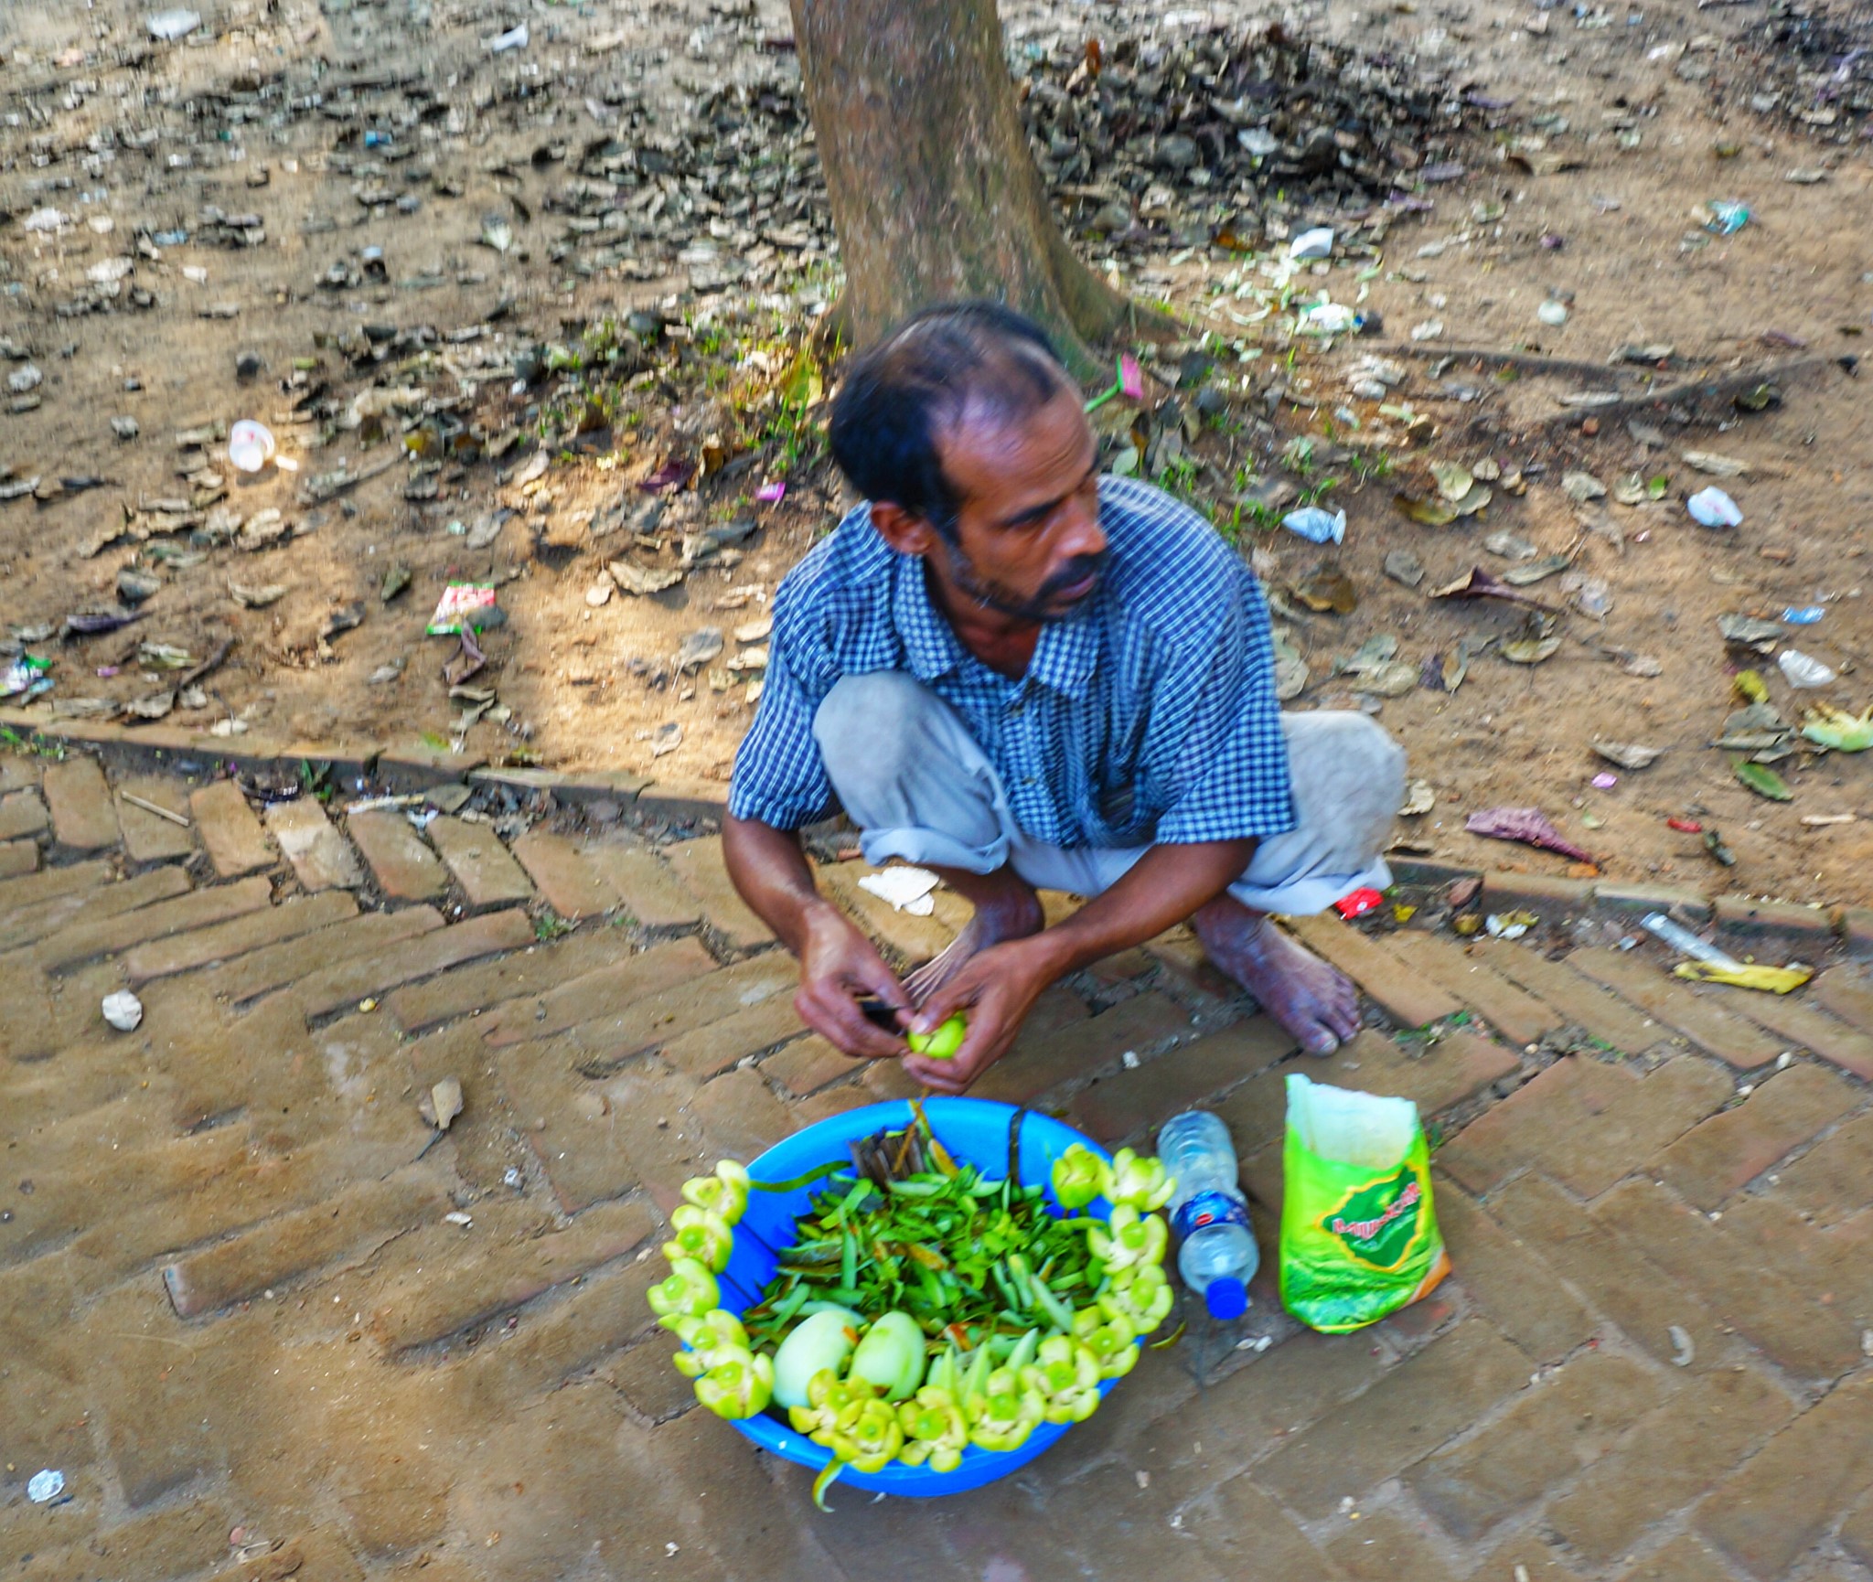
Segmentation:
{"type": "MultiPolygon", "coordinates": [[[[1324,912],[1360,886],[1384,889],[1380,859],[1405,796],[1405,753],[1364,713],[1285,713],[1294,814],[1255,848],[1229,893],[1257,912],[1324,912]]],[[[1015,824],[1000,775],[955,711],[901,670],[841,680],[813,738],[865,861],[963,872],[1013,865],[1038,889],[1098,895],[1150,846],[1049,846],[1015,824]]]]}

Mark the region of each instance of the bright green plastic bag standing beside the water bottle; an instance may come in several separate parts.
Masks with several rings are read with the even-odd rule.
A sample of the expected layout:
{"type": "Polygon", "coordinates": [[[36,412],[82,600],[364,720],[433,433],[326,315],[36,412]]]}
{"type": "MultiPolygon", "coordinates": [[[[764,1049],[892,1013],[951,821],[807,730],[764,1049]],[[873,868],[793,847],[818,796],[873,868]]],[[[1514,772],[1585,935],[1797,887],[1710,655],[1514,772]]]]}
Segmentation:
{"type": "Polygon", "coordinates": [[[1431,1208],[1431,1153],[1410,1099],[1287,1080],[1281,1305],[1343,1335],[1450,1273],[1431,1208]]]}

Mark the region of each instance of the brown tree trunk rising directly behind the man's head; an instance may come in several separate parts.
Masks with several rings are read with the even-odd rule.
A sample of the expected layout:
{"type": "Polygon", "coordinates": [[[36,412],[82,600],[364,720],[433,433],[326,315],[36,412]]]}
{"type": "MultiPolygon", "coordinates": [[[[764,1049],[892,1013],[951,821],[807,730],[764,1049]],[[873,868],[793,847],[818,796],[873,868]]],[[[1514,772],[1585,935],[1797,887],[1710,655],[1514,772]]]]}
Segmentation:
{"type": "Polygon", "coordinates": [[[1128,320],[1047,204],[995,0],[790,0],[845,262],[841,328],[865,344],[920,307],[989,296],[1038,320],[1077,376],[1128,320]]]}

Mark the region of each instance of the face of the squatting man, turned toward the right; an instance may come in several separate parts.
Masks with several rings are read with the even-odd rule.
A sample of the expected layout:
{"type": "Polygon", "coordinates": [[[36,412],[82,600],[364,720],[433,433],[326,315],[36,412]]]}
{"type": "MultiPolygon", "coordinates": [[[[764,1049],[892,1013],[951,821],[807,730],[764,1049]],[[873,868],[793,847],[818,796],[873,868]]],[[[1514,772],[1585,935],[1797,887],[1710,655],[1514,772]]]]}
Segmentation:
{"type": "Polygon", "coordinates": [[[1099,586],[1098,444],[1062,389],[1021,417],[970,410],[938,444],[961,505],[955,543],[935,547],[955,586],[1025,620],[1064,620],[1099,586]]]}

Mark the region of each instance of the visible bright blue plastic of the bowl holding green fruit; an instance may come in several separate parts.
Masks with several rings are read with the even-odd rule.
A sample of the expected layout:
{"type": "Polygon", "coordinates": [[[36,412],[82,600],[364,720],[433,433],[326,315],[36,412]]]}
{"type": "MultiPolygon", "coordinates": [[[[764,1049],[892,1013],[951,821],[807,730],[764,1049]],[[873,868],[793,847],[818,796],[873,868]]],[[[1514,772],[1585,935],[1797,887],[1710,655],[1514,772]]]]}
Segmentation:
{"type": "MultiPolygon", "coordinates": [[[[1015,1116],[1013,1105],[998,1105],[991,1099],[925,1099],[923,1114],[931,1123],[936,1140],[950,1150],[951,1157],[976,1165],[991,1179],[1000,1179],[1008,1170],[1008,1127],[1015,1116]]],[[[789,1181],[804,1176],[817,1165],[833,1159],[850,1161],[847,1144],[875,1131],[901,1129],[912,1120],[910,1105],[905,1101],[890,1105],[865,1105],[862,1110],[847,1110],[815,1121],[805,1131],[794,1133],[785,1142],[777,1142],[747,1166],[747,1174],[757,1181],[789,1181]]],[[[1049,1179],[1053,1163],[1075,1142],[1094,1150],[1101,1159],[1107,1151],[1092,1138],[1081,1136],[1073,1127],[1053,1116],[1028,1110],[1021,1118],[1021,1183],[1036,1185],[1049,1179]]],[[[751,1193],[747,1213],[736,1226],[734,1252],[729,1267],[721,1275],[721,1305],[734,1314],[742,1314],[760,1299],[760,1292],[774,1279],[777,1252],[794,1245],[794,1228],[800,1215],[813,1204],[813,1193],[826,1191],[824,1181],[811,1187],[796,1187],[790,1193],[751,1193]],[[744,1236],[747,1230],[751,1234],[744,1236]]],[[[1099,1198],[1088,1213],[1105,1219],[1111,1204],[1099,1198]]],[[[1105,1380],[1099,1393],[1105,1395],[1118,1380],[1105,1380]]],[[[832,1451],[815,1445],[805,1434],[796,1434],[787,1423],[766,1414],[759,1417],[734,1419],[740,1428],[764,1451],[774,1451],[800,1466],[815,1472],[832,1460],[832,1451]]],[[[963,1464],[955,1472],[933,1472],[927,1466],[905,1466],[890,1462],[880,1472],[856,1472],[845,1468],[839,1483],[852,1488],[873,1488],[884,1494],[908,1494],[927,1498],[935,1494],[961,1494],[966,1488],[981,1488],[1006,1477],[1015,1468],[1026,1466],[1034,1457],[1058,1440],[1071,1423],[1041,1423],[1026,1443],[1015,1451],[985,1451],[970,1445],[963,1451],[963,1464]]]]}

